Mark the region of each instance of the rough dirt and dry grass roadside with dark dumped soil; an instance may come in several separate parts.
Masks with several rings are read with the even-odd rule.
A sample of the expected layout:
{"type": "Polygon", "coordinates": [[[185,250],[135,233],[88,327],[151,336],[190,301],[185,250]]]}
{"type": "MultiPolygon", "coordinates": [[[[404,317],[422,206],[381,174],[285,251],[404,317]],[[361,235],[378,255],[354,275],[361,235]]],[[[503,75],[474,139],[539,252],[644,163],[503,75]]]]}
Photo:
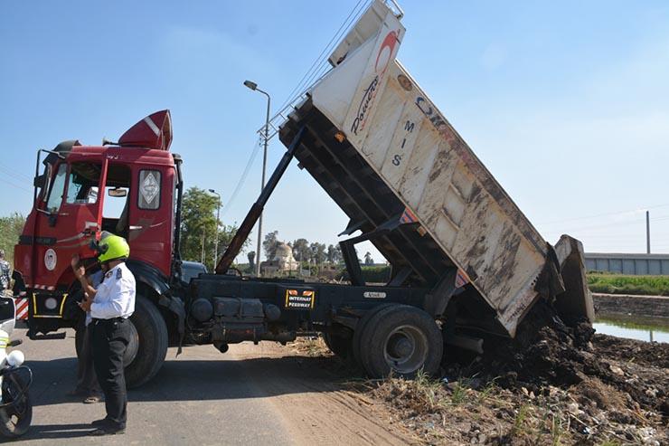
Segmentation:
{"type": "Polygon", "coordinates": [[[543,304],[525,320],[514,341],[486,339],[483,356],[451,354],[438,378],[350,385],[426,444],[669,444],[669,344],[568,327],[543,304]]]}

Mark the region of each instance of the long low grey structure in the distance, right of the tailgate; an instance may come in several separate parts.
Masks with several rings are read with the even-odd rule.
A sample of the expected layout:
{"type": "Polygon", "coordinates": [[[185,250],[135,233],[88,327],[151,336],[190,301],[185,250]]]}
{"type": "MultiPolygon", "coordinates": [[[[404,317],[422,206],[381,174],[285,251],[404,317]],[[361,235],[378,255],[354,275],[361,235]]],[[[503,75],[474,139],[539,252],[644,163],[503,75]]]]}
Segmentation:
{"type": "Polygon", "coordinates": [[[586,252],[586,270],[632,275],[669,275],[669,254],[586,252]]]}

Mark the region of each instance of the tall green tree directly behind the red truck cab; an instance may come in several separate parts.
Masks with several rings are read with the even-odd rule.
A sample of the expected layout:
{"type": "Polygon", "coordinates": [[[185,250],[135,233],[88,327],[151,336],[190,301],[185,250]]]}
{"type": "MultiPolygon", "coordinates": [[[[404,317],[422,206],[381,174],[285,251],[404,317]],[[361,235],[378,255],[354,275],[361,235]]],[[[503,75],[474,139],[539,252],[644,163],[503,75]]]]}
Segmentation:
{"type": "MultiPolygon", "coordinates": [[[[219,238],[219,256],[230,244],[237,226],[222,224],[216,227],[218,198],[204,189],[190,187],[184,193],[181,220],[181,255],[187,261],[202,261],[213,270],[218,259],[213,258],[216,232],[219,238]]],[[[246,245],[249,241],[245,241],[246,245]]],[[[243,247],[242,247],[243,248],[243,247]]]]}

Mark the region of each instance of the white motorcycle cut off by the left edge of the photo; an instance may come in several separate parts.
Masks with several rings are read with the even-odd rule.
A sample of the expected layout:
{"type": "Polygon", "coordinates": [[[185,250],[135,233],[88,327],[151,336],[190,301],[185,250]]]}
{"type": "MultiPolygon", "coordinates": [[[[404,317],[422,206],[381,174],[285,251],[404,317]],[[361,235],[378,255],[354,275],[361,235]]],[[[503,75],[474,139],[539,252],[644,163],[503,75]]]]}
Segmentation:
{"type": "Polygon", "coordinates": [[[28,388],[33,383],[33,372],[24,364],[20,350],[7,354],[7,347],[18,346],[21,340],[10,341],[14,331],[16,307],[11,297],[0,297],[0,435],[16,438],[30,428],[33,403],[28,388]]]}

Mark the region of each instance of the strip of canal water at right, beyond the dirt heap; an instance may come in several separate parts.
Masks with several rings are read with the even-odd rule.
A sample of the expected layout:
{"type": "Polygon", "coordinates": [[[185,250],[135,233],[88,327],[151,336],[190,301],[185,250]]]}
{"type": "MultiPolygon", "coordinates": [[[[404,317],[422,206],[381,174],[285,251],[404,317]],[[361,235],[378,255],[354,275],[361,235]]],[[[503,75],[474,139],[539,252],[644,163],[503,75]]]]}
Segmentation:
{"type": "Polygon", "coordinates": [[[599,314],[593,327],[604,335],[669,343],[669,318],[599,314]]]}

